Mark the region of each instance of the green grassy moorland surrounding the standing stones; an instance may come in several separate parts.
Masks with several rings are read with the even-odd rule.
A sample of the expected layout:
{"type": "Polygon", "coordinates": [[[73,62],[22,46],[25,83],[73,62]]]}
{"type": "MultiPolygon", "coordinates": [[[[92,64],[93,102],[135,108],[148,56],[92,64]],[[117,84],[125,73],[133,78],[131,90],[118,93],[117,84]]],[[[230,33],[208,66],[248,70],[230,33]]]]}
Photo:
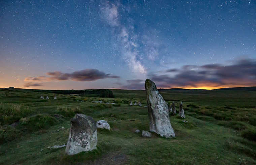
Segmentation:
{"type": "Polygon", "coordinates": [[[161,90],[176,109],[183,101],[188,121],[170,116],[176,137],[168,139],[134,133],[149,130],[145,91],[112,91],[115,98],[0,89],[0,164],[256,164],[256,91],[161,90]],[[129,100],[142,107],[128,106],[129,100]],[[92,152],[49,149],[67,142],[75,113],[107,120],[111,130],[98,130],[92,152]]]}

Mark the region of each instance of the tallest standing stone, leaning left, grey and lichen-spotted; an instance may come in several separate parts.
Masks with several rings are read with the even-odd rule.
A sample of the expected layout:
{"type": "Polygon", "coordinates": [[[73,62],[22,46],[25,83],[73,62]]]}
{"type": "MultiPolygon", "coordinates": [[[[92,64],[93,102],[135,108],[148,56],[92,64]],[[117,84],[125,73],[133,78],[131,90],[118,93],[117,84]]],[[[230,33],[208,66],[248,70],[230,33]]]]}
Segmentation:
{"type": "Polygon", "coordinates": [[[175,133],[169,119],[169,108],[158,92],[156,84],[147,79],[145,81],[147,94],[148,112],[149,112],[149,129],[160,136],[175,137],[175,133]]]}

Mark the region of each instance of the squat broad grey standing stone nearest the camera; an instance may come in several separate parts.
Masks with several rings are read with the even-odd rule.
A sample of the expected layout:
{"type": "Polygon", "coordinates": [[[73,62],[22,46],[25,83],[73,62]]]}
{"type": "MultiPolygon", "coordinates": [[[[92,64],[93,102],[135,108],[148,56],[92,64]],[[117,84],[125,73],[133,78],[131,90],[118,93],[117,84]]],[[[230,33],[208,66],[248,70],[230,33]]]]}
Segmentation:
{"type": "Polygon", "coordinates": [[[65,150],[66,154],[75,155],[96,149],[97,127],[93,118],[84,114],[75,114],[70,121],[71,128],[65,150]]]}

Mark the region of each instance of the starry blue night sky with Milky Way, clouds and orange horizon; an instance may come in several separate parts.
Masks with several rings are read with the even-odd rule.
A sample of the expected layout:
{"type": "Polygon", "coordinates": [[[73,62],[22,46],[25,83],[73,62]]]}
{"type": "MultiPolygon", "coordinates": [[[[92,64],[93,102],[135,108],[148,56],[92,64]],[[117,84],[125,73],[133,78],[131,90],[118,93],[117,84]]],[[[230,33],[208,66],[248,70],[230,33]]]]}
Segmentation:
{"type": "Polygon", "coordinates": [[[256,86],[255,0],[1,1],[0,88],[256,86]]]}

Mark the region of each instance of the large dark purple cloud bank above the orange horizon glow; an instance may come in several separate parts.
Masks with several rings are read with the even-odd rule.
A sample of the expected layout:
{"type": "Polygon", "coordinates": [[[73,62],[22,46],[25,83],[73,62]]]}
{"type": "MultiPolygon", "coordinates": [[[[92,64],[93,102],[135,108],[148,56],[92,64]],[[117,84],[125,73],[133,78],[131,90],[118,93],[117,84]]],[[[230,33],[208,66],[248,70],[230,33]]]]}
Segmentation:
{"type": "Polygon", "coordinates": [[[158,87],[210,87],[220,86],[256,86],[256,59],[240,59],[233,64],[209,64],[203,66],[185,65],[181,69],[171,69],[168,74],[151,75],[158,87]]]}

